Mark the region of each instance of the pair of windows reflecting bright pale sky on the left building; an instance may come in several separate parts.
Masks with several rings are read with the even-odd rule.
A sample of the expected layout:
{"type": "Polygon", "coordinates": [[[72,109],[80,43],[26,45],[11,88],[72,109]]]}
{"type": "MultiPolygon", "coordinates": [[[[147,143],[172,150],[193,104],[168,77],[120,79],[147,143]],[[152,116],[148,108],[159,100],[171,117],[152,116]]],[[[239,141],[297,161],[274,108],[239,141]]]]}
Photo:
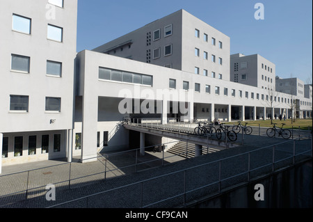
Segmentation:
{"type": "MultiPolygon", "coordinates": [[[[31,35],[31,18],[13,14],[12,30],[31,35]]],[[[63,28],[48,24],[47,38],[49,40],[63,42],[63,28]]]]}

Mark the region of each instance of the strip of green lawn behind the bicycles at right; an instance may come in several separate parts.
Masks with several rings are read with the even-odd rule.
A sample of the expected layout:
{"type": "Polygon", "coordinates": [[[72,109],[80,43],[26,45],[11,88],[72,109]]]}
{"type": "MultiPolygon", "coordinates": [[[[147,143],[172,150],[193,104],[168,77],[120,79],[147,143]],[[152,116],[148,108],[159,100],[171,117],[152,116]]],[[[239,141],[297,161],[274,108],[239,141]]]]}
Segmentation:
{"type": "MultiPolygon", "coordinates": [[[[273,125],[271,125],[271,120],[248,120],[248,121],[243,121],[241,122],[242,125],[244,125],[246,122],[248,122],[249,126],[260,126],[260,127],[273,127],[273,125]]],[[[288,128],[291,129],[292,127],[294,129],[312,129],[312,119],[296,119],[296,121],[293,121],[291,124],[291,119],[289,120],[279,120],[278,118],[276,120],[273,120],[273,122],[278,123],[276,126],[278,127],[282,127],[282,123],[286,124],[284,125],[284,129],[288,128]]],[[[236,125],[238,124],[238,122],[226,122],[226,124],[230,124],[230,125],[236,125]]]]}

